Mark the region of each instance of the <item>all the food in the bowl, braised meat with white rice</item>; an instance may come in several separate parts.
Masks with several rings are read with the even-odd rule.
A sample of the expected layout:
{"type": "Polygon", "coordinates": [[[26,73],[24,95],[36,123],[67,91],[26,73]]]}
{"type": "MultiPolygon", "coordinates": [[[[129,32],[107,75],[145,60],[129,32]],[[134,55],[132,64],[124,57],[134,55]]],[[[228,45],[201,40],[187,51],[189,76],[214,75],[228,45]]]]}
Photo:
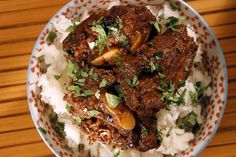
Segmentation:
{"type": "MultiPolygon", "coordinates": [[[[90,156],[178,155],[203,123],[211,77],[173,3],[53,21],[38,79],[54,130],[90,156]]],[[[44,128],[40,128],[44,130],[44,128]]]]}

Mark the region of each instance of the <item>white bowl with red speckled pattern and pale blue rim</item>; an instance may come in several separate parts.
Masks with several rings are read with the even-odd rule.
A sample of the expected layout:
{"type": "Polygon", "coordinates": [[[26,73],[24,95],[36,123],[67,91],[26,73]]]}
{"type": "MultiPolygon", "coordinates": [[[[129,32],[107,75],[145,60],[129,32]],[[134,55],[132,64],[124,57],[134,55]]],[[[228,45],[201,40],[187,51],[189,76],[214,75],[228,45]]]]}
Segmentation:
{"type": "MultiPolygon", "coordinates": [[[[155,6],[163,3],[163,1],[164,0],[121,0],[121,4],[153,5],[155,8],[155,6]]],[[[205,122],[196,138],[191,142],[190,148],[181,153],[182,156],[186,157],[198,156],[213,138],[223,117],[228,90],[227,69],[219,42],[206,21],[185,2],[181,0],[171,1],[180,7],[180,15],[185,16],[193,26],[194,31],[200,35],[200,42],[206,52],[206,56],[204,57],[207,62],[207,70],[212,76],[213,93],[209,105],[206,108],[207,117],[205,122]]],[[[47,117],[47,107],[40,100],[39,89],[36,84],[37,78],[41,75],[41,70],[40,62],[36,56],[42,50],[42,46],[46,44],[45,37],[52,28],[52,20],[58,18],[59,15],[63,15],[69,19],[75,17],[81,18],[83,12],[87,11],[90,15],[107,8],[109,4],[113,2],[114,1],[110,0],[73,0],[69,2],[48,22],[40,33],[32,51],[27,76],[27,97],[30,113],[41,138],[56,156],[72,157],[73,154],[68,151],[65,141],[60,139],[52,129],[49,118],[47,117]],[[41,127],[45,128],[46,132],[40,132],[41,127]]]]}

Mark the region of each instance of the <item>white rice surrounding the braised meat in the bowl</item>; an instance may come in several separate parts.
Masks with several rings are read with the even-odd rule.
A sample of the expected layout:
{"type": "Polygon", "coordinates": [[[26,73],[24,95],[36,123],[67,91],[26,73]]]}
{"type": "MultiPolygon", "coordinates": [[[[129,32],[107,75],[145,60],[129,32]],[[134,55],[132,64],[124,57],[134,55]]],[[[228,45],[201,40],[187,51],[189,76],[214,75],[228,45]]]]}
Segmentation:
{"type": "MultiPolygon", "coordinates": [[[[118,2],[114,2],[113,5],[118,5],[118,2]]],[[[110,8],[110,7],[109,7],[110,8]]],[[[152,10],[151,6],[147,7],[152,10]]],[[[169,5],[165,5],[164,9],[160,10],[160,13],[164,12],[165,16],[175,16],[180,18],[177,11],[173,11],[169,5]]],[[[159,13],[159,14],[160,14],[159,13]]],[[[88,17],[87,11],[83,15],[82,20],[88,17]]],[[[81,20],[81,21],[82,21],[81,20]]],[[[135,150],[123,151],[119,149],[112,149],[109,146],[106,146],[100,142],[95,142],[90,145],[87,142],[87,135],[81,133],[79,127],[74,124],[73,119],[70,114],[66,110],[66,102],[63,100],[63,96],[65,93],[67,78],[65,76],[65,69],[67,67],[67,62],[63,56],[62,50],[62,41],[68,35],[66,29],[72,24],[72,22],[65,18],[64,16],[60,16],[52,22],[54,29],[57,31],[57,38],[55,40],[55,44],[50,46],[44,45],[41,55],[44,55],[45,63],[48,66],[47,72],[41,75],[38,79],[38,86],[42,88],[41,91],[41,99],[45,103],[48,103],[52,106],[53,111],[58,115],[59,121],[65,123],[65,134],[67,144],[73,149],[76,150],[78,144],[85,144],[85,149],[90,150],[92,156],[100,156],[100,157],[109,157],[113,156],[114,153],[120,151],[119,157],[162,157],[163,154],[166,155],[176,155],[187,148],[189,148],[189,141],[194,139],[194,134],[185,132],[183,129],[179,129],[176,127],[176,120],[179,117],[184,117],[190,112],[195,112],[198,115],[198,123],[201,124],[204,118],[201,115],[201,106],[197,104],[195,106],[191,105],[191,98],[189,96],[189,92],[195,92],[196,89],[194,84],[197,81],[201,81],[203,86],[208,86],[211,82],[211,77],[207,72],[203,72],[199,69],[193,68],[193,72],[189,76],[188,80],[184,87],[181,87],[179,91],[183,91],[186,89],[186,94],[184,96],[185,105],[182,106],[171,106],[169,110],[161,109],[156,116],[158,117],[157,128],[163,134],[161,146],[158,149],[152,149],[145,153],[140,153],[135,150]],[[61,75],[61,79],[56,80],[55,75],[61,75]],[[172,129],[171,129],[172,128],[172,129]],[[171,130],[171,131],[169,131],[171,130]],[[166,136],[167,133],[169,136],[166,136]]],[[[197,35],[188,28],[188,34],[192,36],[195,41],[197,39],[197,35]]],[[[91,44],[91,47],[94,45],[91,44]]],[[[202,50],[201,45],[199,45],[199,49],[197,51],[194,62],[202,62],[202,50]]],[[[206,91],[208,96],[211,95],[211,88],[209,87],[206,91]]],[[[76,152],[76,151],[75,151],[76,152]]],[[[85,151],[82,156],[86,156],[88,151],[85,151]]]]}

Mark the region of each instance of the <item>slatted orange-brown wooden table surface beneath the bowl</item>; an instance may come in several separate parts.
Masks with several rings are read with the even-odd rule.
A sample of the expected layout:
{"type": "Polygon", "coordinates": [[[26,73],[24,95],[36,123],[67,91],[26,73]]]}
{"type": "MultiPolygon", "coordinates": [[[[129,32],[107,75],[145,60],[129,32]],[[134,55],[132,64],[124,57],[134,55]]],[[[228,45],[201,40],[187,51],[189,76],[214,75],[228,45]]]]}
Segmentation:
{"type": "MultiPolygon", "coordinates": [[[[37,36],[69,0],[0,0],[0,156],[53,156],[39,137],[26,101],[26,68],[37,36]]],[[[202,157],[236,156],[236,0],[193,0],[223,48],[229,97],[218,133],[202,157]]]]}

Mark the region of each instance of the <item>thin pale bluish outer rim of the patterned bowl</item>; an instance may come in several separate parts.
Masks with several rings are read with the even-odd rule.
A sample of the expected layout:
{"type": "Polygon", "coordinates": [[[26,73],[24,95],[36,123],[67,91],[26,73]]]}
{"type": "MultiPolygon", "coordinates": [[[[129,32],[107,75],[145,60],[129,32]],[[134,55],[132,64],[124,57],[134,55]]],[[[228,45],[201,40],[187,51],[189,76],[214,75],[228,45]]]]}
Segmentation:
{"type": "MultiPolygon", "coordinates": [[[[199,154],[207,147],[208,143],[213,139],[213,137],[215,136],[220,124],[221,124],[221,121],[222,121],[222,117],[224,115],[224,111],[225,111],[225,107],[227,105],[227,96],[228,96],[228,72],[227,72],[227,66],[226,66],[226,62],[225,62],[225,58],[224,58],[224,53],[222,51],[222,48],[220,46],[220,43],[217,39],[217,37],[215,36],[215,34],[213,33],[211,27],[208,25],[208,23],[205,21],[205,19],[195,10],[193,9],[189,4],[187,4],[185,1],[183,0],[172,0],[172,1],[175,1],[175,2],[179,2],[181,3],[184,7],[187,7],[190,12],[192,12],[194,15],[196,15],[199,20],[201,21],[201,23],[206,26],[207,30],[209,31],[210,33],[210,36],[213,38],[213,40],[216,42],[216,49],[218,49],[218,57],[221,61],[221,63],[224,65],[224,67],[222,68],[223,69],[223,73],[224,73],[224,93],[223,93],[223,99],[222,99],[222,102],[223,102],[223,105],[222,105],[222,110],[220,111],[220,116],[218,118],[218,123],[214,125],[214,127],[212,128],[212,133],[207,136],[206,139],[202,140],[201,144],[199,145],[199,147],[196,147],[196,149],[194,150],[193,152],[193,156],[199,156],[199,154]]],[[[35,45],[34,45],[34,48],[32,49],[32,52],[31,52],[31,55],[30,55],[30,58],[29,58],[29,62],[28,62],[28,68],[27,68],[27,83],[26,83],[26,93],[27,93],[27,102],[28,102],[28,106],[29,106],[29,110],[30,110],[30,115],[31,115],[31,118],[33,120],[33,123],[34,123],[34,126],[37,130],[37,132],[39,133],[41,139],[44,141],[44,143],[47,145],[47,147],[52,151],[52,153],[54,155],[56,155],[57,157],[60,157],[60,155],[57,153],[57,151],[50,146],[49,142],[46,141],[45,139],[45,135],[39,131],[39,124],[37,123],[37,116],[36,116],[36,113],[34,112],[33,110],[33,106],[30,105],[30,84],[29,84],[29,81],[31,80],[31,75],[30,75],[30,68],[31,68],[31,64],[30,64],[30,61],[32,60],[32,56],[33,54],[36,53],[37,51],[37,47],[39,46],[39,41],[40,41],[40,36],[42,35],[43,31],[47,28],[49,28],[51,26],[51,23],[52,21],[56,18],[57,15],[59,15],[61,12],[63,12],[64,10],[66,10],[66,8],[71,4],[73,3],[73,0],[69,1],[68,3],[66,3],[63,7],[61,7],[54,15],[53,17],[47,22],[47,24],[44,26],[44,28],[41,30],[41,32],[39,33],[38,35],[38,38],[35,42],[35,45]]]]}

